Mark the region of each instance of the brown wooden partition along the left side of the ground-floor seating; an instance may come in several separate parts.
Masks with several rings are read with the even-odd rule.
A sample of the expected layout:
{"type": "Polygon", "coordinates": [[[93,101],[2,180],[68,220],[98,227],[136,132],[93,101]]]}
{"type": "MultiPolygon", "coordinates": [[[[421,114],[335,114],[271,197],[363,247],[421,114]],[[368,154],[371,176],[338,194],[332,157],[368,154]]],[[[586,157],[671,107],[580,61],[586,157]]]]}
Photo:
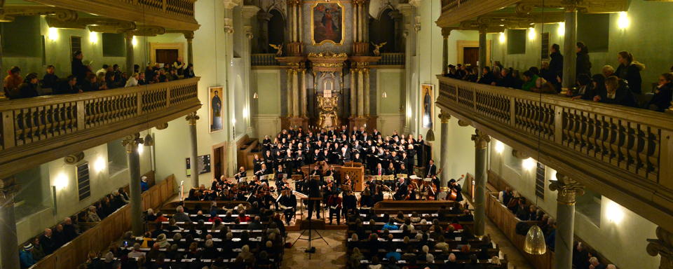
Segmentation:
{"type": "MultiPolygon", "coordinates": [[[[168,176],[142,193],[143,210],[161,206],[175,194],[175,177],[168,176]],[[151,198],[157,198],[151,199],[151,198]],[[150,198],[150,199],[148,199],[150,198]]],[[[125,205],[74,240],[38,261],[33,269],[71,269],[86,262],[88,251],[102,251],[131,228],[130,205],[125,205]]]]}

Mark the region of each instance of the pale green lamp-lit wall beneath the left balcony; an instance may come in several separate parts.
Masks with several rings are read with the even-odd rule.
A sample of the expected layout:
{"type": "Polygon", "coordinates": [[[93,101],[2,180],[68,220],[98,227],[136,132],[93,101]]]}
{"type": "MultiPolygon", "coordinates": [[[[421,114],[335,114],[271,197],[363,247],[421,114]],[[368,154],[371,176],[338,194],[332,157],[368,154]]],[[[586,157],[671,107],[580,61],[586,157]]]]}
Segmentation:
{"type": "MultiPolygon", "coordinates": [[[[142,135],[146,134],[147,132],[142,132],[142,135]]],[[[115,146],[121,147],[122,145],[117,144],[115,146]]],[[[48,170],[48,172],[45,173],[48,174],[48,179],[43,178],[42,180],[48,182],[48,191],[46,191],[48,194],[43,195],[43,198],[46,199],[45,202],[49,208],[28,216],[25,219],[17,219],[16,228],[19,243],[25,242],[30,237],[39,235],[44,228],[54,226],[56,223],[63,221],[65,217],[71,216],[81,209],[88,207],[104,195],[129,184],[130,179],[128,177],[128,170],[123,170],[114,175],[108,173],[107,144],[95,146],[83,152],[84,159],[81,160],[81,163],[89,163],[91,196],[79,201],[75,172],[76,168],[74,165],[65,164],[62,158],[45,163],[43,167],[48,170]],[[95,165],[99,159],[103,160],[102,163],[104,165],[102,170],[97,170],[97,166],[95,165]],[[64,181],[62,181],[62,179],[64,179],[64,181]],[[66,184],[62,184],[61,182],[66,182],[66,184]],[[64,188],[57,188],[57,210],[56,214],[54,214],[53,198],[50,194],[51,186],[61,185],[63,185],[64,188]]],[[[149,172],[152,169],[150,152],[151,151],[146,147],[143,153],[140,154],[140,172],[142,174],[149,172]]],[[[162,179],[163,177],[157,178],[157,181],[161,181],[162,179]]]]}

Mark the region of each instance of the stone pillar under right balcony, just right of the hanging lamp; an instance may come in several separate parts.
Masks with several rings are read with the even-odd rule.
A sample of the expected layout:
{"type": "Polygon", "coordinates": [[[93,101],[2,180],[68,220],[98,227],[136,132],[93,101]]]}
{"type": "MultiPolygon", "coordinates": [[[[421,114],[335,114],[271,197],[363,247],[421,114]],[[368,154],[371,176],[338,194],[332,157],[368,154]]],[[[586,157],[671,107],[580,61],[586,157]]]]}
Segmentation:
{"type": "Polygon", "coordinates": [[[556,205],[556,244],[554,247],[556,269],[573,268],[573,233],[575,229],[575,202],[584,194],[584,186],[574,179],[557,173],[549,184],[552,191],[559,191],[556,205]]]}

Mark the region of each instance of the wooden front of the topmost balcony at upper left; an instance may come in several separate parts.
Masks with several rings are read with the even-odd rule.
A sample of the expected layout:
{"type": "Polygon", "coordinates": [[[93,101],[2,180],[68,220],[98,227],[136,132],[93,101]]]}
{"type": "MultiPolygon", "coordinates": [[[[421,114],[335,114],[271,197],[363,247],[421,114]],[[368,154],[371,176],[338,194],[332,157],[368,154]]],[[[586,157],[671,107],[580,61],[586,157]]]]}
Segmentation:
{"type": "Polygon", "coordinates": [[[196,0],[28,0],[108,18],[140,22],[176,30],[196,31],[196,0]]]}

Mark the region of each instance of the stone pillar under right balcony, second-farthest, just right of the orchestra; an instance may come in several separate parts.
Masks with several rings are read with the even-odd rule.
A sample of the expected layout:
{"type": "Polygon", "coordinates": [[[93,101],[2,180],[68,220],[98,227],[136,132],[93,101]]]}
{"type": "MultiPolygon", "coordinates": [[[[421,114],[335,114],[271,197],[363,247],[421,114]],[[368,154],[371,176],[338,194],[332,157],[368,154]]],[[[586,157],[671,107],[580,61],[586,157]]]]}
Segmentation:
{"type": "Polygon", "coordinates": [[[475,235],[484,236],[486,224],[486,148],[491,137],[480,130],[472,135],[475,142],[475,235]]]}

